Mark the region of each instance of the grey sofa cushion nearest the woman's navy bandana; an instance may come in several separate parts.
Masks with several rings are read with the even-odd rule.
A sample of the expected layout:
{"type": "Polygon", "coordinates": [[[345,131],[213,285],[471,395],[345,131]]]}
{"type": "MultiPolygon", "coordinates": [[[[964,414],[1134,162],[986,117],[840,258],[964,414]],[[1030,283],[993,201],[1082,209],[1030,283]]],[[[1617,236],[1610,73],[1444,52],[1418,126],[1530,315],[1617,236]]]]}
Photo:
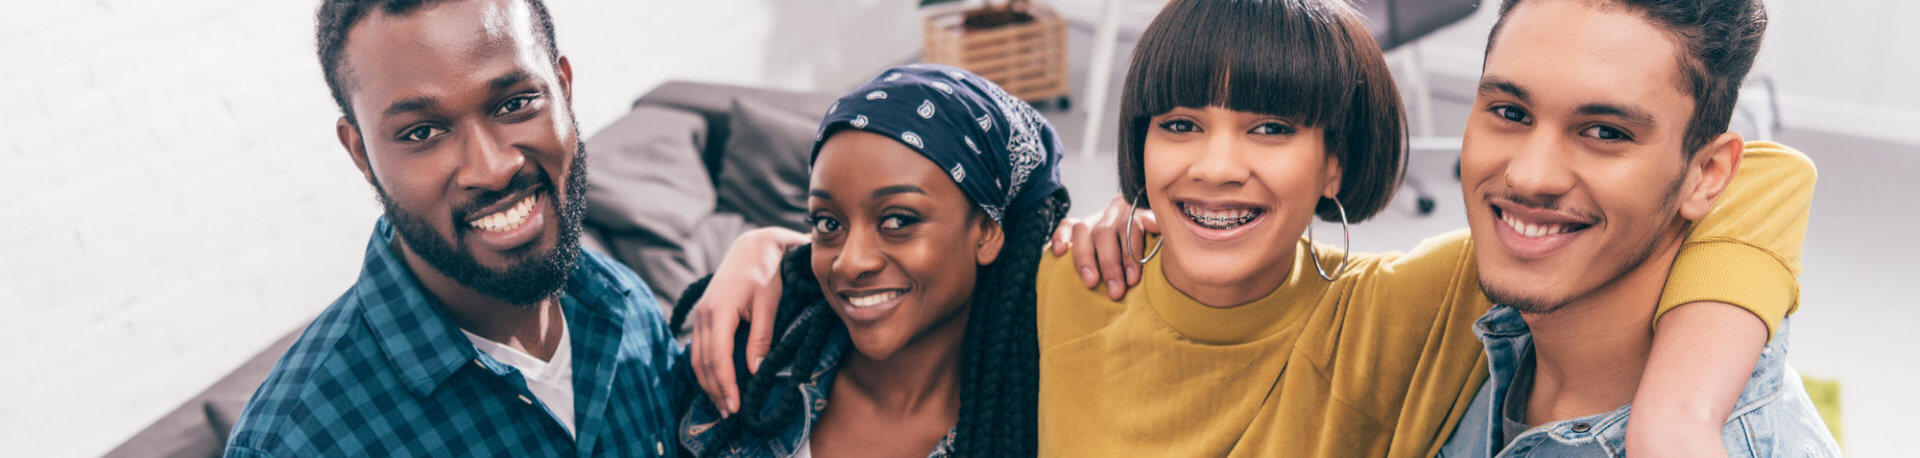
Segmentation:
{"type": "Polygon", "coordinates": [[[806,226],[806,157],[818,117],[755,100],[733,100],[732,134],[720,157],[720,209],[755,226],[806,226]]]}

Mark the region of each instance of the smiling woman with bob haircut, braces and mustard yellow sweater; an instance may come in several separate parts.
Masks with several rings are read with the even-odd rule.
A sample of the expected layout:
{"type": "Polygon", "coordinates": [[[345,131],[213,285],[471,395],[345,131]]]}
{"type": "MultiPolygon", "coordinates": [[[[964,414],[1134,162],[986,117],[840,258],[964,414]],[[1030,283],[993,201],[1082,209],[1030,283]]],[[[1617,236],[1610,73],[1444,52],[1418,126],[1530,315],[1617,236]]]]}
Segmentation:
{"type": "MultiPolygon", "coordinates": [[[[1108,272],[1102,291],[1073,259],[1041,261],[1041,454],[1438,452],[1486,379],[1473,322],[1492,305],[1467,234],[1348,255],[1315,243],[1308,224],[1377,215],[1405,165],[1398,92],[1352,6],[1173,0],[1135,48],[1119,121],[1121,195],[1179,226],[1121,247],[1142,263],[1125,295],[1121,276],[1108,272]]],[[[1722,205],[1763,207],[1734,190],[1722,205]]],[[[1728,217],[1709,215],[1686,243],[1764,243],[1724,240],[1715,218],[1728,217]]],[[[699,307],[714,320],[695,345],[732,345],[699,335],[733,335],[739,318],[768,312],[755,297],[776,278],[753,266],[770,253],[780,245],[733,247],[741,263],[730,255],[716,278],[737,287],[699,307]]],[[[1749,282],[1761,280],[1684,284],[1749,282]]],[[[1647,374],[1713,364],[1743,362],[1647,374]]],[[[730,397],[726,383],[703,387],[730,397]]]]}

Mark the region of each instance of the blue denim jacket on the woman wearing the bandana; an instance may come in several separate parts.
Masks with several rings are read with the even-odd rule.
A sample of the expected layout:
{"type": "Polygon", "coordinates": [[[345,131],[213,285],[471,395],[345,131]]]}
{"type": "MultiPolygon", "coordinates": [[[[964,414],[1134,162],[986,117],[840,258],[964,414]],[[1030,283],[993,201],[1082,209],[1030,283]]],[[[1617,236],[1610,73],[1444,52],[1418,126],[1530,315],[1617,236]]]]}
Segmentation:
{"type": "MultiPolygon", "coordinates": [[[[837,320],[837,318],[835,318],[837,320]]],[[[791,330],[789,330],[791,332],[791,330]]],[[[783,335],[785,339],[785,335],[783,335]]],[[[783,458],[793,456],[806,445],[812,437],[814,422],[820,422],[820,412],[828,410],[828,393],[833,393],[833,374],[839,372],[841,356],[847,355],[847,347],[852,341],[847,337],[847,330],[835,328],[833,335],[828,337],[828,345],[820,349],[820,364],[808,370],[806,383],[799,385],[801,402],[804,402],[804,416],[797,418],[791,425],[781,427],[774,437],[760,437],[758,441],[735,441],[733,447],[718,450],[712,447],[714,424],[720,424],[720,412],[714,410],[712,402],[693,401],[687,414],[680,420],[680,445],[687,447],[693,456],[751,456],[751,458],[783,458]]],[[[780,368],[776,378],[789,378],[797,374],[791,364],[780,368]]],[[[741,381],[745,385],[745,381],[741,381]]],[[[954,431],[947,431],[947,437],[933,447],[927,458],[947,458],[952,456],[954,431]]]]}

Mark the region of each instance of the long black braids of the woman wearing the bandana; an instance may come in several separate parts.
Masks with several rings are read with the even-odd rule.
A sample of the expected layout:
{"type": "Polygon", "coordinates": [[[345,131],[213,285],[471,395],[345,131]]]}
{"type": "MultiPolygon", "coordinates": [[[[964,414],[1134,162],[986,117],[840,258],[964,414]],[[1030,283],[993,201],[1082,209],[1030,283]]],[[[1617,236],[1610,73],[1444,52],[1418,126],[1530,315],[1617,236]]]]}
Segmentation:
{"type": "MultiPolygon", "coordinates": [[[[1006,236],[1000,257],[981,266],[960,349],[956,456],[1033,456],[1039,448],[1035,416],[1041,353],[1033,282],[1041,251],[1068,207],[1068,192],[1060,190],[1035,205],[1008,211],[1000,226],[1006,236]]],[[[712,450],[739,443],[745,439],[741,433],[770,437],[799,422],[801,408],[806,408],[801,404],[799,385],[818,366],[826,343],[847,332],[814,280],[810,247],[785,255],[781,282],[780,312],[774,316],[774,326],[781,332],[760,362],[758,376],[749,376],[745,356],[735,353],[735,378],[745,379],[741,410],[714,425],[712,450]],[[791,368],[789,376],[780,376],[781,368],[791,368]]],[[[701,280],[680,297],[676,330],[705,289],[707,280],[701,280]]],[[[745,349],[745,335],[735,335],[735,349],[745,349]]]]}

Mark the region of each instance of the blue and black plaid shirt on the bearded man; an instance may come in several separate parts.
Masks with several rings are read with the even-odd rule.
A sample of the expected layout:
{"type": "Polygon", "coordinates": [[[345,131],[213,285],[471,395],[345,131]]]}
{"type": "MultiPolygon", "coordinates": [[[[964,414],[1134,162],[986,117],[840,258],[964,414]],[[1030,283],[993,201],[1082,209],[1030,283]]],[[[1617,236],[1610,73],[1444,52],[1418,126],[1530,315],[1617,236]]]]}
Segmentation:
{"type": "Polygon", "coordinates": [[[580,253],[561,309],[576,437],[518,370],[472,347],[374,224],[359,282],[307,326],[248,401],[227,456],[674,456],[691,399],[653,291],[580,253]]]}

